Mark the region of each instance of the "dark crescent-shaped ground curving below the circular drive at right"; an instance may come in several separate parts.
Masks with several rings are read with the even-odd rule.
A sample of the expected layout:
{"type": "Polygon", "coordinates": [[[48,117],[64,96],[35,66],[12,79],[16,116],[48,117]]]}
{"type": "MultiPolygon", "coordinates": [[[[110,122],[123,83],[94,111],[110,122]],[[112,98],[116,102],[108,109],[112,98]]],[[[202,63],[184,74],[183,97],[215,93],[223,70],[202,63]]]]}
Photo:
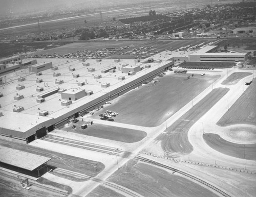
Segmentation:
{"type": "Polygon", "coordinates": [[[256,144],[237,144],[224,140],[217,134],[203,134],[204,141],[216,151],[241,159],[256,160],[256,144]]]}

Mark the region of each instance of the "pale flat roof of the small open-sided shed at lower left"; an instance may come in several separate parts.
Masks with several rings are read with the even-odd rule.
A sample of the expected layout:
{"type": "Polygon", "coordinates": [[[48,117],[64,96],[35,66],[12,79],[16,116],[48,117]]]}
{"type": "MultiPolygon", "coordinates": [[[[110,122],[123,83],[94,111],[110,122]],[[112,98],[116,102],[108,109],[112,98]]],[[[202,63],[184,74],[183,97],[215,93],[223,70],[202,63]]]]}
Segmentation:
{"type": "Polygon", "coordinates": [[[0,146],[0,162],[23,169],[28,169],[30,171],[36,169],[40,165],[50,160],[51,158],[49,157],[35,155],[16,149],[11,149],[9,147],[0,146]]]}

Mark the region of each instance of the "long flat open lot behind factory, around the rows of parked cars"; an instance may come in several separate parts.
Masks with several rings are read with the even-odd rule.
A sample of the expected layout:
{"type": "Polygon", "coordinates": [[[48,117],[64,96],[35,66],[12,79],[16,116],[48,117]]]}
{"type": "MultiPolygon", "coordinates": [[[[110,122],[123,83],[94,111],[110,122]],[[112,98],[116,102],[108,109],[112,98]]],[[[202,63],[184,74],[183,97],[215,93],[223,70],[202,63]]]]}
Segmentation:
{"type": "MultiPolygon", "coordinates": [[[[135,59],[135,58],[147,58],[156,53],[162,52],[164,50],[169,50],[170,47],[173,50],[185,45],[194,45],[200,44],[202,42],[210,42],[212,40],[111,40],[111,41],[84,41],[84,42],[74,42],[70,44],[66,44],[63,46],[51,48],[49,50],[38,51],[33,53],[33,55],[53,55],[54,53],[59,55],[65,55],[69,53],[76,53],[80,51],[82,53],[83,50],[97,50],[101,48],[117,48],[117,47],[127,47],[116,53],[109,53],[106,58],[111,59],[135,59]],[[140,47],[154,47],[155,50],[145,51],[145,54],[139,54],[140,47]],[[134,54],[128,53],[134,50],[134,54]],[[137,51],[137,52],[136,52],[137,51]],[[127,53],[126,53],[127,52],[127,53]]],[[[101,50],[99,50],[101,51],[101,50]]]]}

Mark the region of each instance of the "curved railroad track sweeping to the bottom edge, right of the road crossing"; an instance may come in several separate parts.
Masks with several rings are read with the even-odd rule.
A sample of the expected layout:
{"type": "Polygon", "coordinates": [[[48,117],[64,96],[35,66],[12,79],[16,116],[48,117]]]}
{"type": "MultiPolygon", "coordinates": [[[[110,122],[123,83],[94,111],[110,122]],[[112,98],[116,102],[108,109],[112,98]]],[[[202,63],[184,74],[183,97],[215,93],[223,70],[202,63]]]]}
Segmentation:
{"type": "Polygon", "coordinates": [[[179,174],[181,174],[181,175],[184,175],[184,176],[186,176],[186,177],[189,177],[190,179],[193,179],[193,180],[195,180],[195,181],[197,181],[197,182],[199,182],[199,183],[201,183],[201,184],[203,184],[203,185],[205,185],[205,186],[207,186],[207,187],[209,187],[209,188],[211,188],[211,189],[217,191],[218,193],[222,194],[223,196],[231,197],[230,195],[228,195],[228,194],[225,193],[224,191],[220,190],[219,188],[217,188],[217,187],[215,187],[215,186],[213,186],[213,185],[211,185],[211,184],[209,184],[209,183],[203,181],[202,179],[199,179],[199,178],[197,178],[197,177],[195,177],[195,176],[193,176],[193,175],[189,175],[189,174],[187,174],[187,173],[185,173],[184,171],[181,171],[181,170],[179,170],[179,169],[176,169],[176,168],[173,168],[173,167],[169,167],[169,166],[167,166],[167,165],[158,163],[158,162],[153,161],[153,160],[150,160],[150,159],[146,159],[146,158],[141,157],[141,156],[136,156],[135,159],[137,159],[137,160],[139,160],[139,161],[146,162],[146,163],[150,163],[150,164],[153,164],[153,165],[157,165],[157,166],[160,166],[160,167],[169,169],[169,170],[172,170],[173,173],[179,173],[179,174]]]}

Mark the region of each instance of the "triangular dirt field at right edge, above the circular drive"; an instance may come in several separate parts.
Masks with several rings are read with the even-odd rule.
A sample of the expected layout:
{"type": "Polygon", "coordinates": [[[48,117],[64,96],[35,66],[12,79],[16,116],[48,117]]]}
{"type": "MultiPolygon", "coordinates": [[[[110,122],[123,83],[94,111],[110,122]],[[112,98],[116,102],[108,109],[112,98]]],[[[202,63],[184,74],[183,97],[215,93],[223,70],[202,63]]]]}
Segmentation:
{"type": "Polygon", "coordinates": [[[253,81],[239,99],[217,122],[219,126],[234,124],[256,125],[256,83],[253,81]],[[239,113],[238,113],[239,112],[239,113]]]}

